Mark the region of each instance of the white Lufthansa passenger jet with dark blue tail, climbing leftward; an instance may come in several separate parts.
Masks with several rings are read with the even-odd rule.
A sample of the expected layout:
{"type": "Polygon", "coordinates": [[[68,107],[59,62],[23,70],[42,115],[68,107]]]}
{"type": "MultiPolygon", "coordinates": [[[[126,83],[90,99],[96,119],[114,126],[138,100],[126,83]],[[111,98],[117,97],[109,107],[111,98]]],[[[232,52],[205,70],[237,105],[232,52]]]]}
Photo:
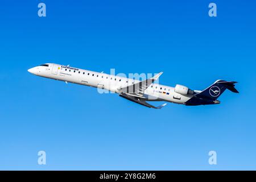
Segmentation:
{"type": "Polygon", "coordinates": [[[166,103],[160,106],[154,106],[148,104],[147,101],[172,102],[187,106],[212,105],[220,104],[217,98],[226,89],[234,93],[239,93],[234,88],[234,84],[237,83],[236,81],[217,80],[203,91],[191,90],[187,86],[179,84],[171,87],[154,83],[163,72],[143,81],[55,63],[42,64],[28,69],[28,72],[36,76],[60,80],[66,83],[71,82],[106,89],[110,92],[117,93],[120,97],[126,98],[129,101],[154,109],[161,109],[166,106],[166,103]]]}

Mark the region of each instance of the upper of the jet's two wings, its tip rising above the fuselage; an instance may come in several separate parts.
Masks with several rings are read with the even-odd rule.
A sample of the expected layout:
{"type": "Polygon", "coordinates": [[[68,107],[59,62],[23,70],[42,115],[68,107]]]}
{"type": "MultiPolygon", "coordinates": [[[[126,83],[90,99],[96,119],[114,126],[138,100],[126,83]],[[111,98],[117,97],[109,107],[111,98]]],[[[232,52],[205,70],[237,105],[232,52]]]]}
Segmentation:
{"type": "Polygon", "coordinates": [[[155,80],[158,80],[159,76],[161,76],[163,72],[158,73],[152,78],[148,78],[147,80],[143,80],[133,85],[129,85],[123,88],[119,88],[118,90],[121,93],[135,93],[138,96],[143,96],[144,90],[148,88],[155,80]]]}

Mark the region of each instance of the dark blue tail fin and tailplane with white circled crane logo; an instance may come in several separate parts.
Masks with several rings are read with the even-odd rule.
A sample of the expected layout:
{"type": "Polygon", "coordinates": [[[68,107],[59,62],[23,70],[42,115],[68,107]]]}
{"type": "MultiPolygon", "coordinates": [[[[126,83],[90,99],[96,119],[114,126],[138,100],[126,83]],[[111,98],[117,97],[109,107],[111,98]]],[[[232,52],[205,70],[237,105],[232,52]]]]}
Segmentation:
{"type": "Polygon", "coordinates": [[[237,89],[234,88],[234,84],[236,83],[236,81],[217,80],[213,85],[210,85],[207,89],[197,94],[197,96],[208,97],[216,100],[226,89],[229,89],[234,93],[239,93],[237,89]]]}

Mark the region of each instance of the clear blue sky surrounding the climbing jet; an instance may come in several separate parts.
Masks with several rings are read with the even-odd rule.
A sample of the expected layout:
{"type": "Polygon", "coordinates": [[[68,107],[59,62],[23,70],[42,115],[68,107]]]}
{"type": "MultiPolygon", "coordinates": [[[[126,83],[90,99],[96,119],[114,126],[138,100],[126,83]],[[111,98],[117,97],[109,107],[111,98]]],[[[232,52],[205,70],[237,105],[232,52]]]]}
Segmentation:
{"type": "Polygon", "coordinates": [[[2,1],[0,169],[256,169],[254,12],[254,1],[2,1]],[[163,71],[160,84],[197,90],[238,81],[240,94],[154,110],[27,72],[48,62],[163,71]]]}

